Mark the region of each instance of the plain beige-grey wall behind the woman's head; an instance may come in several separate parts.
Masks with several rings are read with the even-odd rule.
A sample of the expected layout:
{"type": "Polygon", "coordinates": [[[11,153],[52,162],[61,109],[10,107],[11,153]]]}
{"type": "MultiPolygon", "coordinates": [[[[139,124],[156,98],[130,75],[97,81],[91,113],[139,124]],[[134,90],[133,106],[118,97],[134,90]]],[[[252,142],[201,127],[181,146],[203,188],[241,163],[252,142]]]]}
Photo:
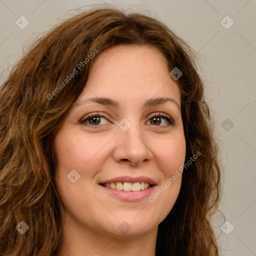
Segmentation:
{"type": "MultiPolygon", "coordinates": [[[[225,172],[220,209],[234,226],[226,234],[231,225],[222,226],[224,232],[220,228],[223,220],[215,220],[222,255],[256,255],[256,1],[105,2],[118,6],[132,4],[133,10],[160,19],[198,52],[225,172]],[[234,21],[229,29],[223,25],[230,26],[231,20],[225,18],[223,25],[220,22],[226,15],[234,21]]],[[[68,14],[67,10],[91,3],[103,1],[0,0],[0,71],[15,63],[29,40],[60,18],[76,13],[68,14]],[[15,24],[21,15],[29,21],[24,29],[15,24]]],[[[1,73],[1,82],[6,74],[1,73]]]]}

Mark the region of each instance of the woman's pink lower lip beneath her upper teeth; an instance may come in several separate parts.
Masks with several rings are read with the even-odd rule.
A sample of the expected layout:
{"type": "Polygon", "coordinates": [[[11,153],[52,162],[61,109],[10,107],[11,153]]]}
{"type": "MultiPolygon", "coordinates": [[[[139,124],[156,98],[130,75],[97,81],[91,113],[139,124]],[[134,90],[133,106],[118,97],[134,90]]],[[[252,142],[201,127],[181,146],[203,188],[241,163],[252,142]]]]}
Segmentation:
{"type": "Polygon", "coordinates": [[[117,189],[113,189],[113,188],[107,188],[105,186],[99,185],[100,187],[102,187],[107,193],[109,193],[110,195],[121,199],[123,201],[139,201],[142,200],[146,197],[148,197],[153,190],[155,189],[156,185],[150,186],[149,188],[146,188],[144,190],[140,190],[140,191],[124,191],[124,190],[117,190],[117,189]]]}

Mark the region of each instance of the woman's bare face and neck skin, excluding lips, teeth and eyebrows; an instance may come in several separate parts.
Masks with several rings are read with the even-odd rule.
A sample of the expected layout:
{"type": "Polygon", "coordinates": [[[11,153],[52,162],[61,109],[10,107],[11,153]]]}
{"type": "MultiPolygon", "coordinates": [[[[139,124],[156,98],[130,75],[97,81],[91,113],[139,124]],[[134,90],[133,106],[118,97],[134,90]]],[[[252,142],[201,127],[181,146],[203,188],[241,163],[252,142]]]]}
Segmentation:
{"type": "Polygon", "coordinates": [[[58,256],[155,255],[158,224],[177,199],[182,175],[153,202],[148,196],[135,202],[115,198],[99,182],[147,176],[156,181],[154,195],[184,163],[180,93],[169,71],[162,53],[146,45],[114,46],[95,57],[86,86],[54,138],[55,182],[65,211],[58,256]],[[76,104],[96,96],[120,105],[76,104]],[[155,97],[170,97],[178,106],[143,107],[155,97]],[[93,112],[104,115],[97,124],[79,122],[93,112]],[[159,112],[174,124],[164,117],[153,122],[152,114],[159,112]],[[131,123],[125,132],[118,126],[123,118],[131,123]],[[80,175],[74,183],[67,178],[72,169],[80,175]],[[126,233],[118,228],[123,221],[130,227],[126,233]]]}

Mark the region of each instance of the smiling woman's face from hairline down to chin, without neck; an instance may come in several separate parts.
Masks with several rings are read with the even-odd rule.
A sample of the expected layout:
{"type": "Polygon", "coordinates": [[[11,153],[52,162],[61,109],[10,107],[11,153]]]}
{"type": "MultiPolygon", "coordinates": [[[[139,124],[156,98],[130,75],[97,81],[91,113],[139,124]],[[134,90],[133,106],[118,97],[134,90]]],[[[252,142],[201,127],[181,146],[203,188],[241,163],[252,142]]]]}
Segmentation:
{"type": "Polygon", "coordinates": [[[157,229],[173,207],[185,137],[169,71],[149,46],[119,45],[94,59],[54,139],[54,178],[70,227],[143,234],[157,229]],[[146,183],[152,186],[145,189],[146,183]]]}

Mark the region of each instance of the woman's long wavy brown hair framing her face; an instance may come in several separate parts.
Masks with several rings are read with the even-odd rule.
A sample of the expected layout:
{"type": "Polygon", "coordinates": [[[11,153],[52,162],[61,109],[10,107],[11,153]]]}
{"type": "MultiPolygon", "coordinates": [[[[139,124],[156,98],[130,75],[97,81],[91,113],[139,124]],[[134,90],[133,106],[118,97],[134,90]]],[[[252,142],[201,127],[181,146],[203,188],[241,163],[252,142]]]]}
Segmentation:
{"type": "Polygon", "coordinates": [[[219,255],[210,219],[221,194],[220,163],[194,53],[160,21],[105,6],[82,11],[44,34],[0,86],[0,255],[56,253],[64,215],[53,178],[52,139],[84,88],[93,63],[85,57],[118,44],[156,47],[169,70],[182,71],[176,82],[185,162],[201,153],[184,169],[178,198],[158,226],[156,255],[219,255]],[[80,62],[78,73],[63,84],[80,62]],[[16,230],[20,221],[29,226],[23,234],[16,230]]]}

